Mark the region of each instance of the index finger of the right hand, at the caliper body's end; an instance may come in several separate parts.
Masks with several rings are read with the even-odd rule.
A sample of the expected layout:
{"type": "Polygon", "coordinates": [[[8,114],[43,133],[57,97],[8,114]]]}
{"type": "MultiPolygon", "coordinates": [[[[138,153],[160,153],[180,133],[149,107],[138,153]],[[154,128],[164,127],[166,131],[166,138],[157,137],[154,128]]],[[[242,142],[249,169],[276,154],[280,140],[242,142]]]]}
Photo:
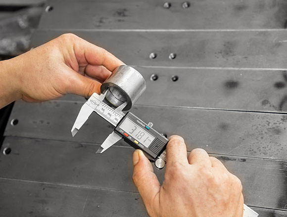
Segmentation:
{"type": "Polygon", "coordinates": [[[187,146],[180,136],[171,136],[166,146],[166,166],[173,165],[176,162],[188,164],[187,146]]]}

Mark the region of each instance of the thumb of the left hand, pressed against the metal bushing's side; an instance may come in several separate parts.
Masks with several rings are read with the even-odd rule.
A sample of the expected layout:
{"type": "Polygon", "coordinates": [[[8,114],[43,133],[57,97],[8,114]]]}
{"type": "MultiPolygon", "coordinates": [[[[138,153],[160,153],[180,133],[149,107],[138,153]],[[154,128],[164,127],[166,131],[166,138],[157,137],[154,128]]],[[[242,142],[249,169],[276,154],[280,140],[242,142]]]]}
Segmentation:
{"type": "MultiPolygon", "coordinates": [[[[72,69],[71,69],[72,70],[72,69]]],[[[89,98],[93,93],[100,93],[101,83],[91,78],[85,77],[79,73],[71,73],[73,77],[66,87],[67,93],[76,94],[89,98]]]]}

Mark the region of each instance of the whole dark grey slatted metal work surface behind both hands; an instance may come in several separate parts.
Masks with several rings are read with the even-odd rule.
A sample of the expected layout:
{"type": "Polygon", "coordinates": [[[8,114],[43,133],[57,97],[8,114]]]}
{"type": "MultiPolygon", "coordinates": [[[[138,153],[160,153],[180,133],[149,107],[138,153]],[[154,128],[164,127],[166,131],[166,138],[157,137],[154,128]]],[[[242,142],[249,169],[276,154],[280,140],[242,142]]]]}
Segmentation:
{"type": "MultiPolygon", "coordinates": [[[[287,1],[169,2],[48,0],[32,47],[74,33],[134,66],[147,85],[136,115],[220,159],[260,217],[287,216],[287,1]]],[[[84,102],[15,103],[0,152],[1,217],[147,216],[134,149],[119,142],[95,155],[112,131],[96,115],[71,136],[84,102]]]]}

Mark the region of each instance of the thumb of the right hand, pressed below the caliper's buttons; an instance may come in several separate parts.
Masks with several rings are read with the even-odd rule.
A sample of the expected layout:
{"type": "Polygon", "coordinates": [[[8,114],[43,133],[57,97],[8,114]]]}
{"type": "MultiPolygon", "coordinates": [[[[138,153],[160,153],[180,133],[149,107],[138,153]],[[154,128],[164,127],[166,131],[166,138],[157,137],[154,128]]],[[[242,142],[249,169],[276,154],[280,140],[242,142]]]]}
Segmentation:
{"type": "Polygon", "coordinates": [[[133,154],[134,173],[133,181],[143,198],[147,210],[159,204],[160,184],[153,173],[149,160],[144,156],[142,150],[135,150],[133,154]]]}

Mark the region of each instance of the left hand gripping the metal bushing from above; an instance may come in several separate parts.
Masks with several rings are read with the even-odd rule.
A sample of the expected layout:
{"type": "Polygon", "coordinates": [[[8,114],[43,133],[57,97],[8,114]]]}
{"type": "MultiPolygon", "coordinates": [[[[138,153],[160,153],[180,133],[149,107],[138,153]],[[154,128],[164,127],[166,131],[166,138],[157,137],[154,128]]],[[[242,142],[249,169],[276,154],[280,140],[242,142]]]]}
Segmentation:
{"type": "Polygon", "coordinates": [[[17,98],[27,102],[52,100],[68,93],[90,97],[99,93],[101,82],[116,67],[124,65],[106,50],[73,34],[3,62],[10,70],[7,73],[13,74],[11,83],[17,88],[17,98]]]}

